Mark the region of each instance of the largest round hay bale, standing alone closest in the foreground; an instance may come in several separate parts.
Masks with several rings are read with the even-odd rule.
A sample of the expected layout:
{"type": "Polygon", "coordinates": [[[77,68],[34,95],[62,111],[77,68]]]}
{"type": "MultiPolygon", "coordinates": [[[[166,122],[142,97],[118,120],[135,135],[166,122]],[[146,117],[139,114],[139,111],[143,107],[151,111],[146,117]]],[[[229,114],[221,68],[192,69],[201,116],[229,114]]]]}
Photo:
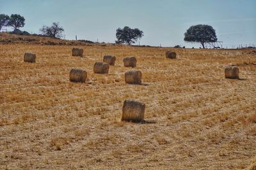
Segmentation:
{"type": "Polygon", "coordinates": [[[139,101],[125,100],[121,120],[141,122],[144,119],[146,105],[139,101]]]}

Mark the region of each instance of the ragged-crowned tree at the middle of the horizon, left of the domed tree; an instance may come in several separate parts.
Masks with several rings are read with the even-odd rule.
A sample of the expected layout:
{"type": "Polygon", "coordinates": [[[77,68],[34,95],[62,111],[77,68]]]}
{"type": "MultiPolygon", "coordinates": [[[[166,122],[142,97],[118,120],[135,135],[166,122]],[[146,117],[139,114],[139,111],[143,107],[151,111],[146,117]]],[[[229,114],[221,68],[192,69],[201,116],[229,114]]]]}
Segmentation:
{"type": "Polygon", "coordinates": [[[116,38],[118,43],[135,43],[139,38],[144,36],[143,31],[140,29],[131,29],[130,27],[124,27],[123,29],[116,29],[116,38]]]}

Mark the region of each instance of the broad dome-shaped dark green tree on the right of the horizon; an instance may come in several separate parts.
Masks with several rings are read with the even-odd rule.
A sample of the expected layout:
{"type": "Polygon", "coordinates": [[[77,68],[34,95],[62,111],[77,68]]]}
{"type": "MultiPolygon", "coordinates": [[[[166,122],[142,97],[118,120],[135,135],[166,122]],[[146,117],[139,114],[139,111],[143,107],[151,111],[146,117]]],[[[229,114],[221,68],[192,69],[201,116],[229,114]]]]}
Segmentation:
{"type": "Polygon", "coordinates": [[[201,43],[205,48],[205,43],[217,41],[215,30],[210,25],[194,25],[185,32],[184,41],[201,43]]]}

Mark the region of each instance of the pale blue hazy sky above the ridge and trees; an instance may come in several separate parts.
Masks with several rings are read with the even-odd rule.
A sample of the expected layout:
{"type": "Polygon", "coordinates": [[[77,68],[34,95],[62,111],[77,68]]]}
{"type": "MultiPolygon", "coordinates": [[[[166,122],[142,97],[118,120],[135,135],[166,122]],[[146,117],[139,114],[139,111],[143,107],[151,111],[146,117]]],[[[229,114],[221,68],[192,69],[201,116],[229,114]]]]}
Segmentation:
{"type": "Polygon", "coordinates": [[[207,24],[223,47],[256,46],[255,0],[0,0],[0,13],[22,15],[21,30],[36,34],[60,22],[66,39],[114,43],[116,29],[129,26],[144,32],[141,45],[198,47],[184,42],[184,32],[207,24]]]}

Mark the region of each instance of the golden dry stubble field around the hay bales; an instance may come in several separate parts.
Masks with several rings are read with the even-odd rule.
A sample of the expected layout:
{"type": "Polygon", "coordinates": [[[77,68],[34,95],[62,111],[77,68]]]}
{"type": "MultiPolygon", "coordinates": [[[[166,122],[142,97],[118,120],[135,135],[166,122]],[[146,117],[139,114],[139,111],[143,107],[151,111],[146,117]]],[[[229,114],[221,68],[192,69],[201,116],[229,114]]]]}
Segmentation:
{"type": "Polygon", "coordinates": [[[256,63],[248,50],[0,45],[0,169],[236,169],[256,155],[256,63]],[[165,58],[175,50],[179,59],[165,58]],[[36,63],[23,62],[25,52],[36,63]],[[93,64],[116,56],[109,74],[93,64]],[[136,56],[146,85],[128,85],[136,56]],[[88,73],[85,83],[69,71],[88,73]],[[146,104],[145,124],[120,122],[125,99],[146,104]],[[151,122],[151,123],[150,123],[151,122]],[[196,162],[196,163],[195,163],[196,162]]]}

